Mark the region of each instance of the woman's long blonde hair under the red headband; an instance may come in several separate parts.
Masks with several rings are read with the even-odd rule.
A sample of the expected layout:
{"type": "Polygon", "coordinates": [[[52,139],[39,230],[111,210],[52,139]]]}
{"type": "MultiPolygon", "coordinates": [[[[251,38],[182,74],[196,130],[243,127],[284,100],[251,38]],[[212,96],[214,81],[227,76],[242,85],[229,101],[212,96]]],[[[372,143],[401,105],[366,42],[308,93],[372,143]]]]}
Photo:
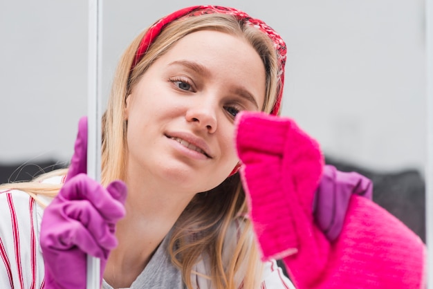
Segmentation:
{"type": "MultiPolygon", "coordinates": [[[[127,163],[127,124],[125,122],[126,97],[131,93],[140,77],[158,57],[167,52],[176,41],[199,30],[217,30],[230,35],[243,37],[260,55],[266,70],[266,95],[262,111],[270,113],[277,99],[279,79],[277,75],[277,54],[273,42],[264,32],[243,24],[231,15],[219,13],[183,17],[168,24],[153,44],[131,70],[136,50],[147,30],[132,41],[122,55],[113,80],[107,111],[102,119],[102,184],[125,180],[127,163]]],[[[25,188],[31,191],[29,187],[25,188]]],[[[40,190],[38,190],[40,192],[40,190]]],[[[172,263],[180,268],[183,280],[192,288],[191,274],[194,264],[204,255],[210,260],[211,272],[207,276],[215,288],[236,288],[237,274],[245,270],[242,279],[244,288],[257,288],[261,277],[262,263],[255,245],[251,224],[242,218],[247,212],[245,193],[239,174],[230,176],[219,186],[208,192],[196,194],[176,221],[169,240],[169,254],[172,263]],[[237,244],[230,252],[230,261],[223,262],[224,241],[230,239],[228,228],[234,219],[241,218],[243,226],[235,234],[237,244]],[[243,271],[242,270],[242,271],[243,271]]],[[[195,272],[198,274],[197,272],[195,272]]],[[[238,283],[237,283],[238,282],[238,283]]]]}

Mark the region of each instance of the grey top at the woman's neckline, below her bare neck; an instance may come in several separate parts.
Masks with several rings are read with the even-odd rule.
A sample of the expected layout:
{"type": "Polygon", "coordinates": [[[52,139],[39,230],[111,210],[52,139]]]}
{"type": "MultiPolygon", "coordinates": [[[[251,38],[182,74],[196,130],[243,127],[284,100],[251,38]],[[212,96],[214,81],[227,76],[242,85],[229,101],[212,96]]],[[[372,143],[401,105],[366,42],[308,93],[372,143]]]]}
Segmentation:
{"type": "MultiPolygon", "coordinates": [[[[145,269],[133,281],[130,289],[182,289],[182,274],[170,261],[167,254],[168,235],[160,243],[145,269]]],[[[102,280],[102,289],[114,289],[102,280]]]]}

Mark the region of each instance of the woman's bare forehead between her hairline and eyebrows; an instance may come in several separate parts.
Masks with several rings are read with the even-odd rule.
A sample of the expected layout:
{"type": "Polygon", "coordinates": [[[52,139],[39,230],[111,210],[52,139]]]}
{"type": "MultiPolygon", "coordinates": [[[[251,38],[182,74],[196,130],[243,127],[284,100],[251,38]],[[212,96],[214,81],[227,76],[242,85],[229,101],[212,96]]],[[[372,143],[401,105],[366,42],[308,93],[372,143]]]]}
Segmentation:
{"type": "Polygon", "coordinates": [[[197,67],[204,68],[203,77],[225,86],[247,88],[257,97],[260,107],[263,105],[264,64],[255,48],[242,36],[215,30],[192,32],[178,40],[154,64],[167,68],[173,62],[198,64],[197,67]]]}

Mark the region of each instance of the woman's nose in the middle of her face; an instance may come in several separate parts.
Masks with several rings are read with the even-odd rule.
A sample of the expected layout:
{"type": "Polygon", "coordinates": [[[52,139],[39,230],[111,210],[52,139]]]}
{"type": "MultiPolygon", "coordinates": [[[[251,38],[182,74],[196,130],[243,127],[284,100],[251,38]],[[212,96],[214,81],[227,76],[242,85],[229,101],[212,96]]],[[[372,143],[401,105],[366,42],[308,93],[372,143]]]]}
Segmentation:
{"type": "Polygon", "coordinates": [[[190,107],[185,115],[187,122],[193,122],[200,129],[206,129],[209,133],[216,131],[216,108],[214,104],[203,102],[190,107]]]}

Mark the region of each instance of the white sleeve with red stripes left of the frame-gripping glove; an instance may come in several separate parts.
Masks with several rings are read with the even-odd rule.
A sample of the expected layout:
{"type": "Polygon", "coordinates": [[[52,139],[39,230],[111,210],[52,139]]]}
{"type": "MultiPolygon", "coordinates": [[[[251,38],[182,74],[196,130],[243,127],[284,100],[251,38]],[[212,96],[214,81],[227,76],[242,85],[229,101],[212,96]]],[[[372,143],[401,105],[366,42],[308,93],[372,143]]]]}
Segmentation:
{"type": "Polygon", "coordinates": [[[0,288],[43,288],[42,213],[25,192],[0,192],[0,288]]]}

